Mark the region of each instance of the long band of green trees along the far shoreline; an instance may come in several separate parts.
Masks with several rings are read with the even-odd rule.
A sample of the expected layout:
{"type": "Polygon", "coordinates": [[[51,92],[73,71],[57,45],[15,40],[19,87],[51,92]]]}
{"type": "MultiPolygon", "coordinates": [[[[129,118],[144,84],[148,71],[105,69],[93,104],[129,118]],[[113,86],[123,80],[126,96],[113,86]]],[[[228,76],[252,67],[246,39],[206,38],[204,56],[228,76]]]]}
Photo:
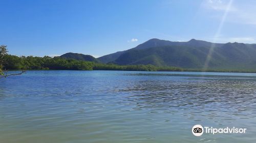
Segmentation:
{"type": "MultiPolygon", "coordinates": [[[[7,70],[30,70],[30,69],[60,69],[60,70],[129,70],[129,71],[202,71],[201,69],[184,69],[171,66],[154,65],[116,65],[102,64],[90,61],[65,59],[61,57],[51,58],[33,56],[4,56],[4,69],[7,70]]],[[[232,73],[256,73],[255,70],[236,70],[236,69],[207,69],[212,72],[232,72],[232,73]]]]}

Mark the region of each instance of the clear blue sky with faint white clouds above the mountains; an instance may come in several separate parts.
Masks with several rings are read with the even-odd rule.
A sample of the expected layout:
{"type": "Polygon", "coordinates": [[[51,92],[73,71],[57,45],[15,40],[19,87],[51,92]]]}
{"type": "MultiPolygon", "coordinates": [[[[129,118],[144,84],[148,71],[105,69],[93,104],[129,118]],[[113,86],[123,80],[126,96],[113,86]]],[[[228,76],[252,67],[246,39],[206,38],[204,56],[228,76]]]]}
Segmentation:
{"type": "Polygon", "coordinates": [[[17,56],[100,57],[151,38],[256,43],[254,0],[0,0],[0,45],[17,56]]]}

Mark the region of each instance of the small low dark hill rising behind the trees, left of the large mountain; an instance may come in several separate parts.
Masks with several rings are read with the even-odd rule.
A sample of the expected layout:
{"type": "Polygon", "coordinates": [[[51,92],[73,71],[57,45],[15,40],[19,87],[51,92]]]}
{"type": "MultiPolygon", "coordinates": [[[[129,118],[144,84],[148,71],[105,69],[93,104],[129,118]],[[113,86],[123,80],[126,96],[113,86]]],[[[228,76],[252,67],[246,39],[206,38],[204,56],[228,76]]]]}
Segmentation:
{"type": "Polygon", "coordinates": [[[61,58],[66,59],[75,59],[75,60],[82,60],[82,61],[91,61],[91,62],[99,62],[98,59],[94,58],[91,55],[83,55],[78,53],[66,53],[60,56],[61,58]]]}

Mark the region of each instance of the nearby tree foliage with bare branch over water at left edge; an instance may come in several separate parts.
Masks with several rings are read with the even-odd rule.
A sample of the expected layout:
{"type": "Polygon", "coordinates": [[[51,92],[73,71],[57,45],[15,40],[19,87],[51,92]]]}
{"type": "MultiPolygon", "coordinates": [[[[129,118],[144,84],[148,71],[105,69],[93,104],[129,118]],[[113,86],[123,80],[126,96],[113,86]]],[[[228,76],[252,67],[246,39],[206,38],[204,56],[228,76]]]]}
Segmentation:
{"type": "Polygon", "coordinates": [[[8,55],[8,51],[7,51],[7,45],[1,45],[0,46],[0,78],[6,78],[8,76],[14,76],[14,75],[21,75],[23,73],[25,73],[25,71],[23,70],[22,72],[18,73],[18,74],[8,74],[7,70],[3,69],[5,66],[6,61],[5,61],[5,56],[8,55]]]}

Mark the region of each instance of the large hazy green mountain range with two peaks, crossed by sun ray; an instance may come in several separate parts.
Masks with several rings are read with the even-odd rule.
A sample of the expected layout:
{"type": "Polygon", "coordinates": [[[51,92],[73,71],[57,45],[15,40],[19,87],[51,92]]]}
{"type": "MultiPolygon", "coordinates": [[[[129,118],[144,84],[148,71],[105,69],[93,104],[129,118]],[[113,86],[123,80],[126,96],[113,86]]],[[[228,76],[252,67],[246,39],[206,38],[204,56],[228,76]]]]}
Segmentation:
{"type": "Polygon", "coordinates": [[[204,68],[209,59],[207,67],[210,69],[256,69],[255,55],[256,44],[211,43],[196,39],[187,42],[151,39],[133,49],[98,59],[104,63],[119,65],[153,64],[183,68],[204,68]]]}

